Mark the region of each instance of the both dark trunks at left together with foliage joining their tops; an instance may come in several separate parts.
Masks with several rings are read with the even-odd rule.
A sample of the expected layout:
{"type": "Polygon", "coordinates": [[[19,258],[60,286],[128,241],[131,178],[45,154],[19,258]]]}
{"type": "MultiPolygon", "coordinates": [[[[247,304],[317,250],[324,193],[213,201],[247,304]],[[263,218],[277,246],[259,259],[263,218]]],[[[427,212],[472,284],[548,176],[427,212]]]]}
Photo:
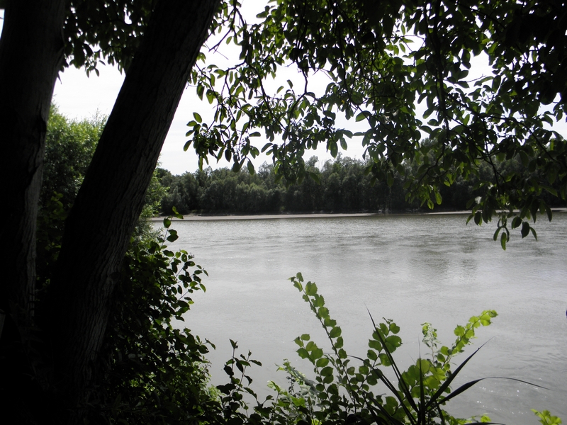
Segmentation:
{"type": "Polygon", "coordinates": [[[12,247],[0,260],[6,415],[30,409],[44,422],[80,421],[118,267],[218,4],[7,2],[0,38],[0,168],[13,182],[6,193],[13,208],[1,212],[1,237],[12,247]],[[125,81],[67,219],[57,272],[35,309],[35,219],[53,86],[64,58],[94,69],[99,57],[120,63],[125,81]],[[24,332],[34,323],[40,365],[26,362],[38,348],[24,332]]]}

